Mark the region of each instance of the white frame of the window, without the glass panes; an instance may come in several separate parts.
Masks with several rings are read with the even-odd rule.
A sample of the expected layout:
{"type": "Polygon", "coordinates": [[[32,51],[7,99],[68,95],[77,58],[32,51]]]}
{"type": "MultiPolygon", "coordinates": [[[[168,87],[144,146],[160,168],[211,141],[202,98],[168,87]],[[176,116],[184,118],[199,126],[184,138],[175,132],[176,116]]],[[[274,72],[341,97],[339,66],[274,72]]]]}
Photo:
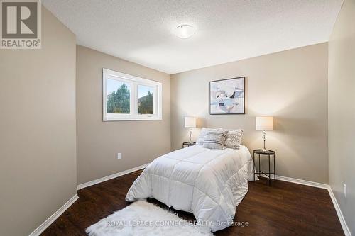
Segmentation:
{"type": "Polygon", "coordinates": [[[162,83],[156,82],[151,79],[143,79],[141,77],[135,77],[130,74],[124,74],[121,72],[115,72],[111,69],[102,68],[102,101],[103,101],[103,120],[161,120],[162,119],[162,83]],[[107,79],[114,79],[120,82],[126,82],[131,84],[130,88],[130,113],[107,113],[107,95],[106,84],[107,79]],[[138,114],[138,85],[150,86],[154,88],[153,91],[153,114],[138,114]]]}

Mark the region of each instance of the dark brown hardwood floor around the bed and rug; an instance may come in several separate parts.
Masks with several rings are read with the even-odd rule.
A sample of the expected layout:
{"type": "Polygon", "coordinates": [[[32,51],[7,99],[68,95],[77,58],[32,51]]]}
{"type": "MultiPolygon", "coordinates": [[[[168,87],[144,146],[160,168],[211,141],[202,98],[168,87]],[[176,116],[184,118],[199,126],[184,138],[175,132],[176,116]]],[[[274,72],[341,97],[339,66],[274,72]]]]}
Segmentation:
{"type": "MultiPolygon", "coordinates": [[[[42,235],[85,235],[85,229],[128,206],[126,193],[140,171],[89,186],[78,191],[79,199],[42,235]]],[[[167,208],[163,203],[151,203],[167,208]]],[[[176,211],[175,211],[176,212],[176,211]]],[[[191,213],[178,211],[186,220],[191,213]]],[[[231,226],[215,235],[344,235],[329,193],[325,189],[266,180],[249,182],[249,192],[236,208],[234,221],[249,226],[231,226]]]]}

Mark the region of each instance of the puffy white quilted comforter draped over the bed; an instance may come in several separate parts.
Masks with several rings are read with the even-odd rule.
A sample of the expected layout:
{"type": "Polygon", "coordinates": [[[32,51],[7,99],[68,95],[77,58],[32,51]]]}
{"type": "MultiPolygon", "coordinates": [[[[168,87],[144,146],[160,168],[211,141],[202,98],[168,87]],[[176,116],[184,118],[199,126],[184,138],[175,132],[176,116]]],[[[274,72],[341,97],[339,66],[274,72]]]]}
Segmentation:
{"type": "Polygon", "coordinates": [[[245,146],[239,150],[186,147],[151,162],[134,181],[126,201],[155,198],[193,213],[202,230],[217,231],[233,222],[252,177],[253,160],[245,146]]]}

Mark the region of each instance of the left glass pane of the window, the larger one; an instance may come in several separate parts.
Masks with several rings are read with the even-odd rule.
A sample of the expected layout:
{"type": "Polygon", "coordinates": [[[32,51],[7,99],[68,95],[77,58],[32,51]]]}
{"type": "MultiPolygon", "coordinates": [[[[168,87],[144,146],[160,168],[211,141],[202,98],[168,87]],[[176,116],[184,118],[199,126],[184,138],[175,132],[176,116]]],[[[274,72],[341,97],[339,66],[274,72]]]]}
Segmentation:
{"type": "Polygon", "coordinates": [[[106,80],[107,113],[130,113],[131,84],[106,80]]]}

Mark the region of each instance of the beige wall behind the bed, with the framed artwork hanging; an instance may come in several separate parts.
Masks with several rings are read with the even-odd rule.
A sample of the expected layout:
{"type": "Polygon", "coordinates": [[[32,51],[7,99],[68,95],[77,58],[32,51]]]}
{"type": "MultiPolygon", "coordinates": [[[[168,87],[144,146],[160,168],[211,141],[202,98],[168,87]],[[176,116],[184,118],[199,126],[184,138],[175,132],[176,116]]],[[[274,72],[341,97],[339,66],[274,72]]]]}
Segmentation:
{"type": "Polygon", "coordinates": [[[277,174],[328,182],[327,43],[173,74],[171,89],[173,150],[188,140],[184,116],[197,116],[205,127],[243,128],[251,152],[262,146],[255,116],[275,116],[266,145],[277,152],[277,174]],[[209,81],[240,76],[246,115],[209,115],[209,81]]]}

